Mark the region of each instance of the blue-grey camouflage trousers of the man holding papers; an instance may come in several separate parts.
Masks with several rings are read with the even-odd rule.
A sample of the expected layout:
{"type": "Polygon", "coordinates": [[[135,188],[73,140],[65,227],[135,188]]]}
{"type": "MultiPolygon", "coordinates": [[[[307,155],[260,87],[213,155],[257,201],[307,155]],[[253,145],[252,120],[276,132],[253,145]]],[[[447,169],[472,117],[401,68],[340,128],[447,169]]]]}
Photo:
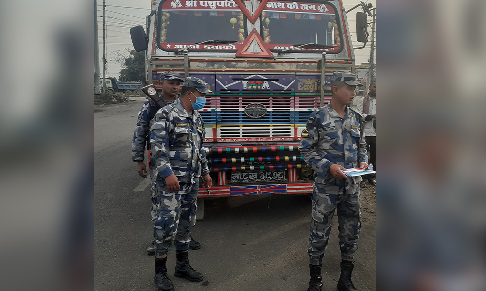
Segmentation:
{"type": "Polygon", "coordinates": [[[326,193],[326,185],[314,183],[311,235],[307,250],[312,265],[322,264],[336,209],[341,258],[353,259],[354,252],[358,249],[356,242],[361,229],[361,198],[359,188],[350,188],[354,193],[348,193],[343,187],[341,194],[330,194],[326,193]]]}

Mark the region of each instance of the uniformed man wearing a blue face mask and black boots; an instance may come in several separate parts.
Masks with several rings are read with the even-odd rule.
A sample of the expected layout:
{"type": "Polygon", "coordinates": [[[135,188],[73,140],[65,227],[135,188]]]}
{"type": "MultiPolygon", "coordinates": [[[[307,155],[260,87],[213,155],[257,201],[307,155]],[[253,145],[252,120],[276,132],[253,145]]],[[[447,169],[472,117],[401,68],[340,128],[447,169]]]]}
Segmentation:
{"type": "Polygon", "coordinates": [[[201,150],[204,124],[198,110],[203,108],[205,95],[211,93],[208,84],[187,77],[181,97],[174,104],[159,110],[150,134],[152,157],[157,169],[157,211],[155,235],[155,283],[157,290],[174,290],[167,275],[167,252],[174,240],[176,252],[175,276],[193,282],[203,280],[203,274],[189,264],[190,228],[196,222],[196,199],[199,178],[203,186],[212,186],[206,154],[201,150]]]}

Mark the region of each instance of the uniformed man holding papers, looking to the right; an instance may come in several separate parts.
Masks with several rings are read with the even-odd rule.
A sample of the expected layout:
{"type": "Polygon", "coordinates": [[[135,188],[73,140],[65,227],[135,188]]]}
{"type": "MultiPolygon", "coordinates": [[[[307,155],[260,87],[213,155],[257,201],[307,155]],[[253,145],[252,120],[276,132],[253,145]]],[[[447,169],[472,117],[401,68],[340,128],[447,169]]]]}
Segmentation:
{"type": "Polygon", "coordinates": [[[356,290],[351,281],[353,256],[361,227],[358,177],[347,177],[341,170],[367,166],[366,142],[361,115],[348,107],[356,86],[361,84],[351,72],[332,74],[332,97],[328,105],[314,111],[307,122],[299,146],[300,154],[314,170],[308,291],[322,290],[321,267],[329,240],[332,217],[337,208],[341,275],[339,291],[356,290]]]}

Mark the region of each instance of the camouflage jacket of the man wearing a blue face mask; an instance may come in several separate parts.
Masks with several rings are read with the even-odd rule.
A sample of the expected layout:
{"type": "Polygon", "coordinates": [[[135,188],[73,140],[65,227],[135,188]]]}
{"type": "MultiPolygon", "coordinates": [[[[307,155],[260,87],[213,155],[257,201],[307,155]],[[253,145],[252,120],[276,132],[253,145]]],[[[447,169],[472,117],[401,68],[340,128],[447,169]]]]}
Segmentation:
{"type": "Polygon", "coordinates": [[[160,178],[175,174],[180,182],[195,183],[209,173],[204,123],[197,110],[188,113],[179,100],[159,110],[150,128],[152,159],[160,178]]]}

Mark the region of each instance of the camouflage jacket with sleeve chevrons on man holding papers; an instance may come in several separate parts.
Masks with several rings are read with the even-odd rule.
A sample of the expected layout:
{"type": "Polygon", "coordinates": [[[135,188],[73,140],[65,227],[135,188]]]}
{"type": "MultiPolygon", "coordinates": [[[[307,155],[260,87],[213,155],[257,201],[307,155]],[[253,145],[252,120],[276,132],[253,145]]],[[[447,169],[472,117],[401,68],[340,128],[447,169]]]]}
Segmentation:
{"type": "MultiPolygon", "coordinates": [[[[336,179],[328,171],[333,164],[345,168],[358,167],[360,162],[368,162],[366,142],[361,126],[361,114],[347,107],[344,118],[330,106],[315,110],[302,132],[300,154],[314,170],[316,183],[348,187],[345,179],[336,179]]],[[[348,178],[351,184],[359,183],[360,176],[348,178]]],[[[329,189],[331,193],[332,188],[329,189]]]]}

